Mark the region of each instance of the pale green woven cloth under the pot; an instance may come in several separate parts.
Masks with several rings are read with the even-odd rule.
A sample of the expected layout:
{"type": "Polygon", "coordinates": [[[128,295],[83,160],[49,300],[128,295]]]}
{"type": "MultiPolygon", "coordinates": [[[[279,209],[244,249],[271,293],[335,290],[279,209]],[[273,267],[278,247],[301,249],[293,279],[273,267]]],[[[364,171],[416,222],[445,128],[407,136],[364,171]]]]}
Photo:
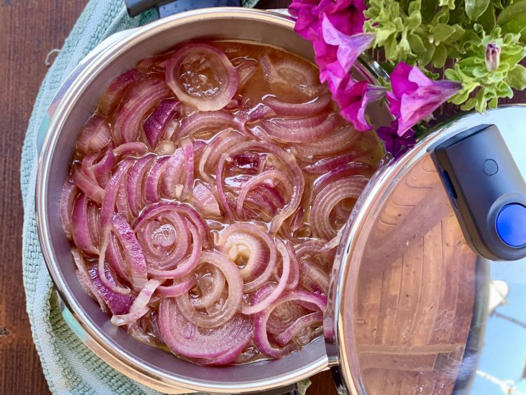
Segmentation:
{"type": "MultiPolygon", "coordinates": [[[[245,0],[243,5],[253,6],[256,1],[245,0]]],[[[24,287],[34,343],[43,373],[54,394],[156,394],[100,360],[62,319],[36,237],[34,215],[37,135],[46,109],[62,81],[104,38],[155,18],[157,13],[154,11],[129,18],[122,0],[91,0],[43,80],[29,120],[20,168],[25,212],[22,236],[24,287]]],[[[304,383],[301,387],[303,393],[304,383]]]]}

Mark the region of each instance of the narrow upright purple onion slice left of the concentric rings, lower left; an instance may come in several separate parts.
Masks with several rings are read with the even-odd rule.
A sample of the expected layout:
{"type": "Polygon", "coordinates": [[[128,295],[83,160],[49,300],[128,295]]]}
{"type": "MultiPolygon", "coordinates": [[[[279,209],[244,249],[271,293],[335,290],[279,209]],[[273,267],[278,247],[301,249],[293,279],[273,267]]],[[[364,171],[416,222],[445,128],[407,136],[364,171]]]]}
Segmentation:
{"type": "Polygon", "coordinates": [[[124,256],[128,262],[131,274],[131,284],[134,290],[140,290],[147,282],[147,267],[142,248],[133,233],[133,229],[121,214],[113,217],[113,229],[121,242],[124,256]]]}

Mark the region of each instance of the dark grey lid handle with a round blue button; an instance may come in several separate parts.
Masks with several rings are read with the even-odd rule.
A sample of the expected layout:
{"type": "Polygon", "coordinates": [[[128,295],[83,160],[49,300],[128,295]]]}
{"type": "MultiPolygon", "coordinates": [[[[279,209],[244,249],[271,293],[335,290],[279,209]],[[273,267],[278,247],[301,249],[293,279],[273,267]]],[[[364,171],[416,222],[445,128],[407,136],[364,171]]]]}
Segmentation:
{"type": "Polygon", "coordinates": [[[526,183],[499,128],[468,129],[432,156],[471,247],[489,260],[525,257],[526,183]]]}

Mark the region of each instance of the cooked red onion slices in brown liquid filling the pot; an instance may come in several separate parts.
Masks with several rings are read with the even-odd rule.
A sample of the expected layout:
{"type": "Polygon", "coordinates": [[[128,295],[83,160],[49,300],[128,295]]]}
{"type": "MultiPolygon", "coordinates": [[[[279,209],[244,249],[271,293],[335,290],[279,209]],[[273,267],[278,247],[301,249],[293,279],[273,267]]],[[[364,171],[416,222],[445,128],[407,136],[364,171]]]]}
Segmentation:
{"type": "Polygon", "coordinates": [[[339,229],[383,153],[278,48],[142,60],[102,95],[62,192],[79,281],[115,325],[189,361],[285,356],[323,333],[339,229]]]}

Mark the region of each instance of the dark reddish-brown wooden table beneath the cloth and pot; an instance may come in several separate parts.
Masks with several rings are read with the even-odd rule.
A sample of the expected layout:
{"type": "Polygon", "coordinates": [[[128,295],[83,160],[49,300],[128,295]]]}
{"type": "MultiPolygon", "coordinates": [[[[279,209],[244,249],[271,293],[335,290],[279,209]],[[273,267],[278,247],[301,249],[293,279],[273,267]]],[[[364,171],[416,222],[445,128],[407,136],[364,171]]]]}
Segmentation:
{"type": "MultiPolygon", "coordinates": [[[[60,48],[87,0],[0,0],[0,394],[49,394],[25,311],[22,286],[20,152],[46,54],[60,48]]],[[[286,0],[285,0],[286,2],[286,0]]],[[[267,6],[263,4],[263,6],[267,6]]],[[[336,394],[330,373],[312,395],[336,394]]]]}

